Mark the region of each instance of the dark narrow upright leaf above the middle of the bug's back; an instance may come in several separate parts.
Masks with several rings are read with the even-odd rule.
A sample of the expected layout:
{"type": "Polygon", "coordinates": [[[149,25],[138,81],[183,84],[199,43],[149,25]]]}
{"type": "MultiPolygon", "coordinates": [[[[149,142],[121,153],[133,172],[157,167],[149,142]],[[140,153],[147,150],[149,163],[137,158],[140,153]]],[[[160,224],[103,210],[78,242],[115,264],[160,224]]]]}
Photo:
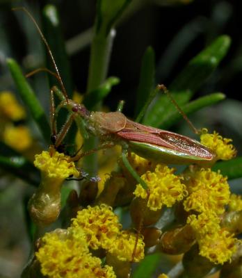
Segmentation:
{"type": "Polygon", "coordinates": [[[154,69],[155,67],[155,54],[152,47],[147,47],[143,56],[140,81],[138,84],[138,91],[136,97],[135,117],[140,113],[145,102],[149,99],[149,95],[154,89],[154,69]]]}

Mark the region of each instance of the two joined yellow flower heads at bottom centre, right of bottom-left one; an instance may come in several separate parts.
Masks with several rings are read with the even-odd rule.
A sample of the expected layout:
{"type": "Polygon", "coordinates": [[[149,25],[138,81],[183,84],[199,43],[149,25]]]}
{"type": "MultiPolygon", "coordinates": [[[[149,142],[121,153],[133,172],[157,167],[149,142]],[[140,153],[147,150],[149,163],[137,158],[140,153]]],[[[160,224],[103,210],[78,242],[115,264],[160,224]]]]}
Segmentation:
{"type": "Polygon", "coordinates": [[[140,261],[144,257],[143,238],[139,237],[136,245],[136,235],[131,231],[121,231],[118,216],[105,204],[88,206],[79,211],[76,218],[72,219],[72,229],[84,231],[90,248],[103,248],[121,261],[140,261]]]}

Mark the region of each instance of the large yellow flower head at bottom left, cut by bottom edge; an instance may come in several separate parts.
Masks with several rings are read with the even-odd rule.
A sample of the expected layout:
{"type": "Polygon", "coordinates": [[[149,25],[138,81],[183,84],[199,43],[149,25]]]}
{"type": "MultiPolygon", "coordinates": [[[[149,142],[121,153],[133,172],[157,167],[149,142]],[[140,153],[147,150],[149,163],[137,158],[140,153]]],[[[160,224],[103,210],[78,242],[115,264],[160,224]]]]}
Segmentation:
{"type": "Polygon", "coordinates": [[[42,246],[35,253],[43,275],[51,278],[115,278],[113,269],[92,256],[88,250],[86,236],[79,229],[75,233],[72,229],[57,229],[45,234],[42,246]]]}

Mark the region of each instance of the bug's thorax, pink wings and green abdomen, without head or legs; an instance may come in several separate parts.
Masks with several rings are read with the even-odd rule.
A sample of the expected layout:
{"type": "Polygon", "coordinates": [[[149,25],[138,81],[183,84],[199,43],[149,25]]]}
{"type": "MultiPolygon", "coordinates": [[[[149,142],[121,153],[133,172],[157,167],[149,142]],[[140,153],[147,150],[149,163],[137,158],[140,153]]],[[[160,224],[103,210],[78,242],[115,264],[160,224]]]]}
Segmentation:
{"type": "Polygon", "coordinates": [[[216,161],[211,149],[177,133],[128,120],[120,112],[91,112],[88,126],[95,136],[128,147],[154,161],[172,164],[196,163],[210,166],[216,161]]]}

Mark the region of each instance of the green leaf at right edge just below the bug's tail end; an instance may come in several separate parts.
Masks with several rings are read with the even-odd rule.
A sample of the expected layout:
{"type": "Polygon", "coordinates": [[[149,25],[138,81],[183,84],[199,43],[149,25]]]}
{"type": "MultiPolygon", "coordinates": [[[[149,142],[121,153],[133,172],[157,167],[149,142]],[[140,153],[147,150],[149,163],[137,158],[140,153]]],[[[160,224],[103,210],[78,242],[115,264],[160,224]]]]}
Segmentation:
{"type": "Polygon", "coordinates": [[[242,177],[242,156],[236,157],[230,161],[219,161],[213,167],[213,171],[220,170],[221,174],[228,179],[238,179],[242,177]]]}

